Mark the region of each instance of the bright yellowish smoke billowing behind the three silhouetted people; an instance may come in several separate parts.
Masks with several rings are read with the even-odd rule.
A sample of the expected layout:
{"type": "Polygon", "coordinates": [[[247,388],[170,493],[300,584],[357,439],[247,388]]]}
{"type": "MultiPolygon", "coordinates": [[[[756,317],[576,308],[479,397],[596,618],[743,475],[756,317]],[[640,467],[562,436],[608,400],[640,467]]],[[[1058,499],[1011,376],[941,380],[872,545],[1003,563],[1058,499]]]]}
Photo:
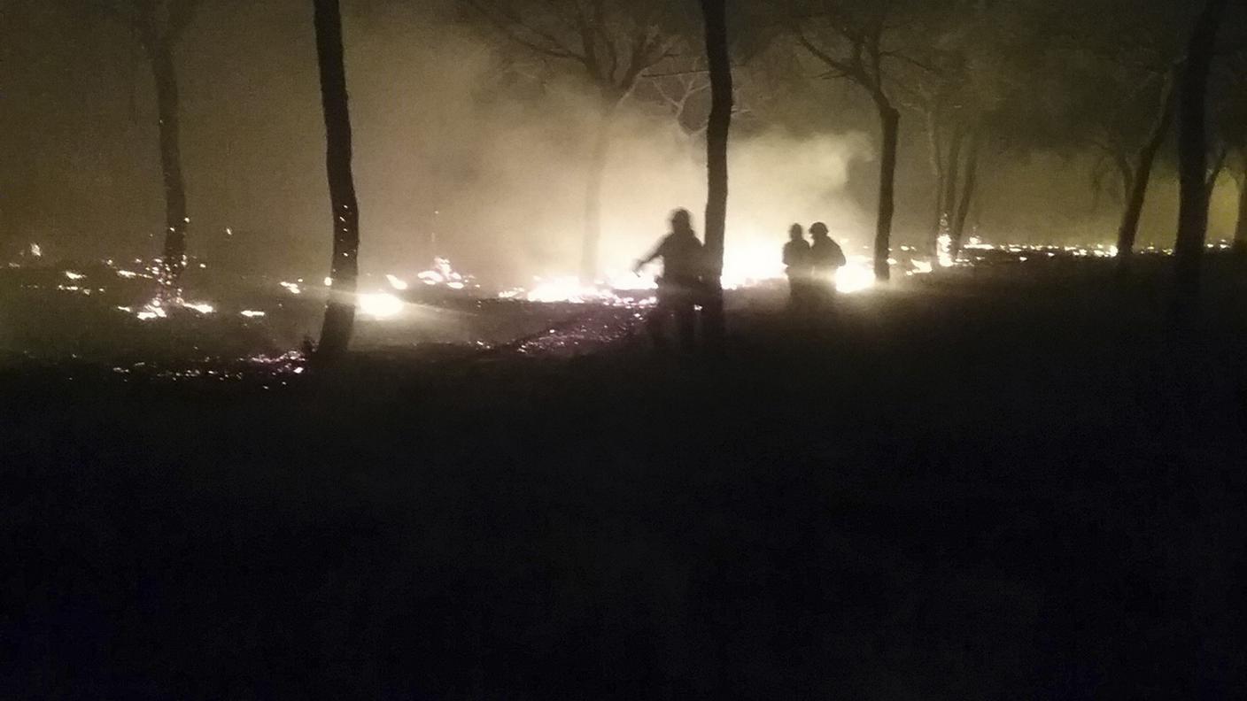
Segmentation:
{"type": "MultiPolygon", "coordinates": [[[[385,12],[362,19],[348,37],[365,268],[423,266],[436,253],[494,279],[574,273],[602,118],[576,66],[509,69],[515,56],[496,37],[385,12]]],[[[671,210],[701,218],[705,145],[636,99],[609,130],[600,267],[617,273],[666,232],[671,210]]],[[[870,157],[864,135],[737,130],[728,266],[764,259],[778,268],[792,222],[823,220],[859,238],[864,216],[845,186],[852,162],[870,157]]]]}

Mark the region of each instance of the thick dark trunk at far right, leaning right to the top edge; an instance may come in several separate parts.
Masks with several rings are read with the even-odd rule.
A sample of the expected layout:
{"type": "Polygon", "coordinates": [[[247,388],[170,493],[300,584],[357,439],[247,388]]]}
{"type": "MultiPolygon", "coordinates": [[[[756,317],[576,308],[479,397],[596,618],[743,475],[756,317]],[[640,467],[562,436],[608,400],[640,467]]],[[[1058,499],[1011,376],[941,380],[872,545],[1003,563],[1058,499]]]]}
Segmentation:
{"type": "Polygon", "coordinates": [[[1217,31],[1226,5],[1227,0],[1208,0],[1205,4],[1187,45],[1186,67],[1182,75],[1178,123],[1181,195],[1177,241],[1173,244],[1175,281],[1180,308],[1193,304],[1200,292],[1200,266],[1203,261],[1203,241],[1208,230],[1206,122],[1208,72],[1212,67],[1217,31]]]}

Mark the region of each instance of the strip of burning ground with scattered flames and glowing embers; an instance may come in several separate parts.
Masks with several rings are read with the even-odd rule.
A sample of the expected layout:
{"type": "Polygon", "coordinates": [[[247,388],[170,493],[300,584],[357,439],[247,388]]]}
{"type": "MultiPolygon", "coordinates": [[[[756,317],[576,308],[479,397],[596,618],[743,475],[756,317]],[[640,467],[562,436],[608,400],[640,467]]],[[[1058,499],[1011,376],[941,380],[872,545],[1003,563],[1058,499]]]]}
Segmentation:
{"type": "MultiPolygon", "coordinates": [[[[849,266],[839,273],[837,284],[845,294],[872,293],[864,253],[850,252],[849,266]]],[[[993,246],[975,239],[956,262],[928,261],[903,246],[893,263],[897,287],[923,288],[930,283],[925,276],[936,268],[945,277],[1000,266],[1045,271],[1111,254],[1104,247],[993,246]]],[[[328,278],[239,276],[196,261],[186,273],[182,299],[161,304],[153,279],[157,264],[36,258],[0,269],[0,358],[112,363],[140,372],[247,360],[264,367],[301,353],[306,339],[319,333],[328,278]]],[[[725,283],[737,301],[773,299],[786,286],[782,267],[767,257],[743,254],[728,266],[725,283]]],[[[441,258],[423,271],[367,274],[359,289],[355,348],[372,352],[455,347],[587,353],[633,336],[653,302],[652,277],[612,274],[587,287],[571,277],[499,286],[441,258]]]]}

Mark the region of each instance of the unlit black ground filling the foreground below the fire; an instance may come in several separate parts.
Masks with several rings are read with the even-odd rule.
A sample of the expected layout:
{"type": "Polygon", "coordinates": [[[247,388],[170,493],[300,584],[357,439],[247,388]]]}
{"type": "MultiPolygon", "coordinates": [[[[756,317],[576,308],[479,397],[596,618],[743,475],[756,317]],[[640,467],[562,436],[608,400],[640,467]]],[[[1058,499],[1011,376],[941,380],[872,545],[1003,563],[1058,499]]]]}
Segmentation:
{"type": "Polygon", "coordinates": [[[717,365],[9,373],[0,696],[1231,697],[1245,302],[953,279],[738,309],[717,365]]]}

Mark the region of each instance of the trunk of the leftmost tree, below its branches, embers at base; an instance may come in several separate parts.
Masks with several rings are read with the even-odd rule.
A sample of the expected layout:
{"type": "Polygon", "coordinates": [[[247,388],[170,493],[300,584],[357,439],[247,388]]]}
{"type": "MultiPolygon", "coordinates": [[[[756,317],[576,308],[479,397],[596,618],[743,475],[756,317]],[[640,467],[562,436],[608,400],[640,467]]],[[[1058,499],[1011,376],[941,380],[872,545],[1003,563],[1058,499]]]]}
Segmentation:
{"type": "Polygon", "coordinates": [[[186,269],[186,183],[182,178],[182,150],[178,128],[177,72],[167,37],[158,36],[147,46],[156,80],[156,111],[160,130],[161,176],[165,185],[165,248],[161,252],[161,297],[178,296],[178,282],[186,269]]]}

